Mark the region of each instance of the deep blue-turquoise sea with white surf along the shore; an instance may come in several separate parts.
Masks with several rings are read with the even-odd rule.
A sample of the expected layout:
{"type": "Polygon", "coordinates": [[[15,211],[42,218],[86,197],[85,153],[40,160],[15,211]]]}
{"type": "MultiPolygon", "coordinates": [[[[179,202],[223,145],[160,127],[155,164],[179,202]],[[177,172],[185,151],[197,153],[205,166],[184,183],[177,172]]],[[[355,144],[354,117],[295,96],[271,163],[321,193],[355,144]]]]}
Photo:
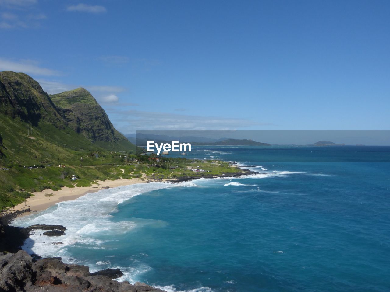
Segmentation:
{"type": "Polygon", "coordinates": [[[66,235],[24,248],[167,291],[390,291],[390,147],[193,146],[187,158],[257,173],[61,202],[14,225],[66,235]]]}

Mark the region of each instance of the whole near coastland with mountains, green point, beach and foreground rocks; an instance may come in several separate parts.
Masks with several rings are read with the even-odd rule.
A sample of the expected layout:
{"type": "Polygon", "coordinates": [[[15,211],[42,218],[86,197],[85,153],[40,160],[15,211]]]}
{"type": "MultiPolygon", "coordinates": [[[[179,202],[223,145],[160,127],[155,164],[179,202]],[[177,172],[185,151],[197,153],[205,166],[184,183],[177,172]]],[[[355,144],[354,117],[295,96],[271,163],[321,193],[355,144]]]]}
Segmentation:
{"type": "Polygon", "coordinates": [[[144,155],[84,88],[48,95],[30,76],[4,71],[0,102],[0,290],[161,291],[112,280],[121,276],[119,269],[89,273],[60,258],[30,256],[21,246],[31,232],[56,237],[66,227],[8,223],[102,188],[252,173],[220,160],[144,155]]]}

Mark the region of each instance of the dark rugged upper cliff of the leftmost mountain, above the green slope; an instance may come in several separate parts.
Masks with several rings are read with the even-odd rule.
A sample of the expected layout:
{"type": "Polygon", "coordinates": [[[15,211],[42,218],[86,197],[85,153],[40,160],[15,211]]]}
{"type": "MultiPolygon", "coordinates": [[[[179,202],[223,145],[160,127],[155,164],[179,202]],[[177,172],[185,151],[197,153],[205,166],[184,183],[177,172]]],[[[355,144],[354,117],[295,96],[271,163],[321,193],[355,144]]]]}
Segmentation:
{"type": "Polygon", "coordinates": [[[49,95],[24,73],[0,72],[0,113],[32,126],[46,121],[60,127],[64,121],[49,95]]]}

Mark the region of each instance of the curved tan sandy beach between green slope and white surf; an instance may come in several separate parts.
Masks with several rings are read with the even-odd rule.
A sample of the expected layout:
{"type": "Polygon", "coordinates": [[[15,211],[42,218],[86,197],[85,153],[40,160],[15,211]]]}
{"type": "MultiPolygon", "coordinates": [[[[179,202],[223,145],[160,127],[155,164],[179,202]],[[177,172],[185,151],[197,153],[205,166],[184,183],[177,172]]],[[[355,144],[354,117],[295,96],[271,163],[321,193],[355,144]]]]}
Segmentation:
{"type": "MultiPolygon", "coordinates": [[[[27,208],[30,208],[32,212],[43,211],[49,208],[50,206],[57,204],[58,202],[74,200],[77,199],[78,197],[85,195],[86,193],[97,192],[98,190],[107,187],[115,188],[117,186],[133,185],[135,183],[146,183],[146,181],[143,181],[139,178],[133,178],[133,179],[120,178],[113,181],[110,180],[95,181],[95,184],[92,184],[92,186],[80,186],[80,187],[76,186],[74,188],[69,188],[64,186],[61,190],[58,191],[44,190],[42,192],[34,192],[32,193],[34,197],[29,197],[28,199],[26,199],[24,203],[21,203],[13,208],[10,208],[9,211],[14,212],[14,211],[27,209],[27,208]],[[50,196],[48,196],[48,194],[50,194],[50,196]]],[[[28,215],[28,214],[30,214],[30,212],[23,213],[23,215],[28,215]]]]}

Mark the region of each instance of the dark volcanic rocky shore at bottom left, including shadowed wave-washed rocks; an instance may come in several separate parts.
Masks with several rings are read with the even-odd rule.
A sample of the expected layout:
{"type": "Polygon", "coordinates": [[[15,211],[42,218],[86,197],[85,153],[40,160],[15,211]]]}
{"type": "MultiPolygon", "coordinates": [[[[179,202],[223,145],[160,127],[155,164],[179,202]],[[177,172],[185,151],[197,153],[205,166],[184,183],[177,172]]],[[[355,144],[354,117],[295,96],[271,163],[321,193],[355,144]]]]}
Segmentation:
{"type": "Polygon", "coordinates": [[[0,218],[0,292],[163,292],[140,282],[132,285],[128,281],[113,280],[123,275],[119,269],[90,273],[89,267],[65,264],[60,257],[42,259],[39,255],[28,255],[20,246],[31,232],[47,230],[43,235],[57,236],[58,233],[66,232],[66,227],[9,226],[8,223],[17,215],[3,214],[0,218]]]}

